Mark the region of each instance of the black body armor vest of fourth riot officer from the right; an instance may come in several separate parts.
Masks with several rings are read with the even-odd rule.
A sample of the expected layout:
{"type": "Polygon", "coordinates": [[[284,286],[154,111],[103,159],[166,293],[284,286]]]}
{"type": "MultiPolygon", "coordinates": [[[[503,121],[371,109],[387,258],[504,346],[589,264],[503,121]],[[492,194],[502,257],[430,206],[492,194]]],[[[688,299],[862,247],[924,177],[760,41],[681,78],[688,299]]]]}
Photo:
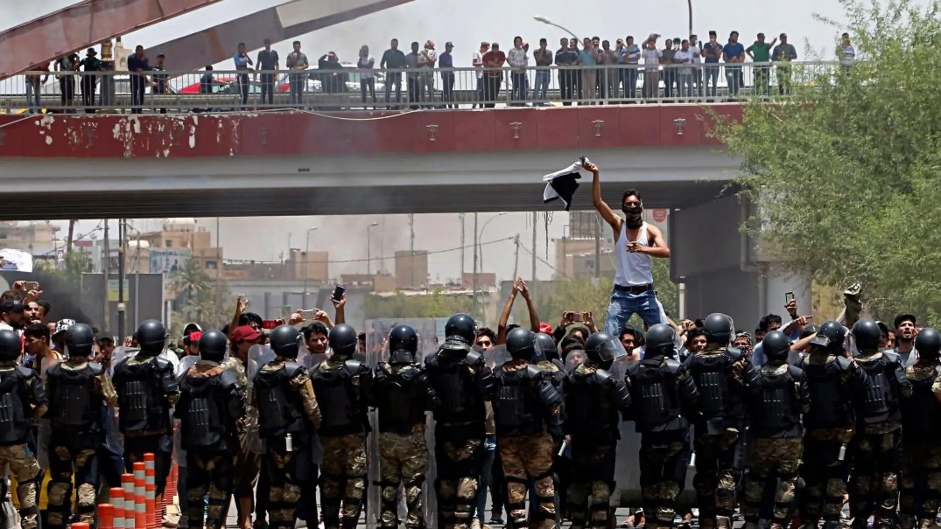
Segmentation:
{"type": "Polygon", "coordinates": [[[756,437],[799,437],[801,410],[794,383],[801,369],[788,366],[780,375],[762,372],[753,367],[749,381],[752,386],[751,428],[756,437]]]}

